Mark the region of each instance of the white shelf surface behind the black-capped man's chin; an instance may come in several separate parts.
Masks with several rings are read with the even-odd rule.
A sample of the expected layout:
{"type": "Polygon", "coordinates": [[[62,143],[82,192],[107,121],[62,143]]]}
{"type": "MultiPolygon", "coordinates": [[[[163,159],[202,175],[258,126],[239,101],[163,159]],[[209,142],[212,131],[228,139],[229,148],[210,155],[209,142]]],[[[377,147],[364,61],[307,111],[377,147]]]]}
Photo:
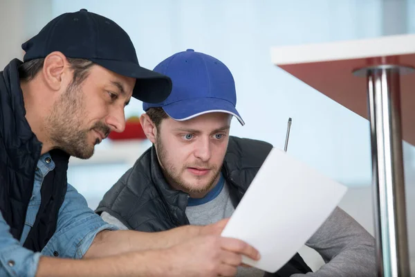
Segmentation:
{"type": "Polygon", "coordinates": [[[71,157],[69,166],[90,166],[109,163],[127,163],[133,165],[138,157],[151,146],[147,140],[111,141],[105,145],[95,147],[95,152],[90,159],[78,159],[71,157]]]}

